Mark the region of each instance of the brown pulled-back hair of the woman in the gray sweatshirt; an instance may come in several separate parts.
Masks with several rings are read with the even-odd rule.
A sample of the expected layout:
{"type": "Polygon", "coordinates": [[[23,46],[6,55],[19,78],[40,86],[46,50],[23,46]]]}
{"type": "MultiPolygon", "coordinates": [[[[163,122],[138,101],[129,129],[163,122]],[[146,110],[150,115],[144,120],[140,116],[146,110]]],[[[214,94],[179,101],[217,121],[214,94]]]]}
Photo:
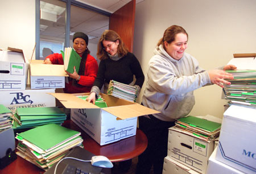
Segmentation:
{"type": "Polygon", "coordinates": [[[170,26],[166,29],[166,31],[164,31],[164,34],[163,34],[163,38],[161,38],[158,42],[158,46],[160,46],[160,44],[163,44],[163,47],[164,47],[164,41],[166,41],[167,43],[172,43],[174,42],[175,40],[175,36],[179,33],[183,33],[183,34],[186,34],[187,35],[187,38],[188,38],[188,34],[187,34],[187,31],[185,31],[185,29],[181,26],[176,26],[176,25],[173,25],[173,26],[170,26]]]}

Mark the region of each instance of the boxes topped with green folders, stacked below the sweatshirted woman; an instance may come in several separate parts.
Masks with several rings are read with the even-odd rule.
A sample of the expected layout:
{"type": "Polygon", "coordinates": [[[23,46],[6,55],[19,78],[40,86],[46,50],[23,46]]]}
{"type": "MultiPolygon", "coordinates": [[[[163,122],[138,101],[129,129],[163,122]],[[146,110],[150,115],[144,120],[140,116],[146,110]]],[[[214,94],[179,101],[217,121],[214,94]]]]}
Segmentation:
{"type": "Polygon", "coordinates": [[[208,159],[214,150],[214,139],[220,132],[220,122],[220,119],[210,115],[178,119],[176,125],[169,129],[168,156],[164,159],[163,173],[175,173],[167,165],[174,165],[170,159],[175,161],[175,165],[183,173],[205,173],[208,159]],[[218,121],[207,120],[212,118],[218,121]],[[182,167],[183,165],[187,168],[182,167]]]}

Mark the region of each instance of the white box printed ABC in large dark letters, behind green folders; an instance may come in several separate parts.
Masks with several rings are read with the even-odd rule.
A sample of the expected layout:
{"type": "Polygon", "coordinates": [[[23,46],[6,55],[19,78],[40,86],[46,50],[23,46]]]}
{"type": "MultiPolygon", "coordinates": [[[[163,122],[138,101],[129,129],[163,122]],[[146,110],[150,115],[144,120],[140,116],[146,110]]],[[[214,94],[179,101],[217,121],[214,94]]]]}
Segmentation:
{"type": "Polygon", "coordinates": [[[15,91],[0,91],[1,104],[15,113],[17,107],[53,107],[56,106],[55,97],[47,93],[54,93],[55,89],[26,89],[15,91]]]}

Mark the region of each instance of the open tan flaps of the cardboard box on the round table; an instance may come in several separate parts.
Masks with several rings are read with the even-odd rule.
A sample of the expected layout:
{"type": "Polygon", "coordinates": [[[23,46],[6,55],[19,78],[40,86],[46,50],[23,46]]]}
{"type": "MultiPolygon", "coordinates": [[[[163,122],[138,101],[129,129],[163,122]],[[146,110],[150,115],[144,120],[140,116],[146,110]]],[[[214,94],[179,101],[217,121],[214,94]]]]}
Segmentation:
{"type": "Polygon", "coordinates": [[[48,94],[51,94],[53,97],[57,98],[57,100],[59,100],[66,108],[102,109],[107,111],[110,114],[115,115],[119,119],[126,119],[126,118],[138,117],[141,115],[160,113],[159,111],[150,109],[146,106],[139,105],[138,103],[125,101],[122,99],[118,99],[118,100],[125,101],[126,103],[128,103],[128,105],[100,108],[96,105],[93,105],[92,103],[82,100],[79,97],[76,97],[74,94],[67,94],[67,93],[48,93],[48,94]]]}

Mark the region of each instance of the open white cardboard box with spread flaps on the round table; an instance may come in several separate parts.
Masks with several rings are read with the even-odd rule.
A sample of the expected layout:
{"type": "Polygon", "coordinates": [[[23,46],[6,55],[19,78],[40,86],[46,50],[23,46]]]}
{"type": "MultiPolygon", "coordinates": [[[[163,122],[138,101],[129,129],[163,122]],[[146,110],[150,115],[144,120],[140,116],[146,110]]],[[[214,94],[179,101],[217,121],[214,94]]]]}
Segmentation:
{"type": "Polygon", "coordinates": [[[71,120],[100,145],[136,135],[137,117],[159,111],[106,94],[101,94],[108,107],[100,108],[76,96],[89,93],[51,93],[66,108],[71,108],[71,120]]]}

